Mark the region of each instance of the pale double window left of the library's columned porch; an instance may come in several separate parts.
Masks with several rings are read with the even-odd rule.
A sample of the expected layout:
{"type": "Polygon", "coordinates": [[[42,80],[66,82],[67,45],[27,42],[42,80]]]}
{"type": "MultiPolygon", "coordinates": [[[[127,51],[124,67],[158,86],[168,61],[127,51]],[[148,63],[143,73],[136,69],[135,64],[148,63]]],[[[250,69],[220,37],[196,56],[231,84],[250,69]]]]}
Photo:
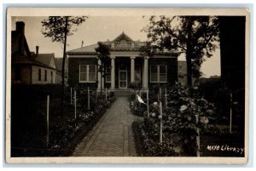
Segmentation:
{"type": "Polygon", "coordinates": [[[94,83],[96,82],[96,65],[79,66],[79,82],[94,83]]]}

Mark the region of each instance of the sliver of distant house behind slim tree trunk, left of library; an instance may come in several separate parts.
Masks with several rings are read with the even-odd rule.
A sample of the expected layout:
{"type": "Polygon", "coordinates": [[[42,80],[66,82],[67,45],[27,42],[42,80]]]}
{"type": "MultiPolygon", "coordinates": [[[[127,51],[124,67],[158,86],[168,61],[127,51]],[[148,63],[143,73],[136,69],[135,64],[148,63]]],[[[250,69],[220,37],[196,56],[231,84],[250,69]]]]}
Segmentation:
{"type": "MultiPolygon", "coordinates": [[[[62,60],[63,60],[63,58],[55,58],[55,63],[56,63],[56,67],[57,67],[56,83],[62,83],[62,76],[61,76],[62,60]]],[[[67,60],[66,60],[66,64],[65,64],[64,77],[65,77],[65,84],[67,84],[67,77],[68,77],[68,64],[67,64],[67,60]]]]}

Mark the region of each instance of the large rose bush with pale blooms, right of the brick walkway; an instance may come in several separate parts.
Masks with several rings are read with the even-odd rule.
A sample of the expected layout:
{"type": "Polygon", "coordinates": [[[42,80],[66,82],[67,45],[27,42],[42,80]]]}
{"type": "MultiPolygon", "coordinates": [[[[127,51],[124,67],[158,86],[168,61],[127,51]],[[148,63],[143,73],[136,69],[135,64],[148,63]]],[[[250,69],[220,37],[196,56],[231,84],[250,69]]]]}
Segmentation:
{"type": "Polygon", "coordinates": [[[168,105],[163,108],[161,117],[159,104],[154,102],[149,105],[149,118],[144,118],[141,128],[144,144],[148,146],[147,151],[151,151],[148,152],[150,155],[167,155],[160,152],[157,147],[160,141],[160,119],[162,119],[161,148],[168,148],[165,151],[169,151],[167,153],[170,156],[196,156],[197,130],[204,131],[207,128],[207,124],[215,114],[215,107],[197,95],[196,91],[193,92],[193,96],[190,93],[189,88],[183,88],[180,83],[172,86],[168,94],[168,105]]]}

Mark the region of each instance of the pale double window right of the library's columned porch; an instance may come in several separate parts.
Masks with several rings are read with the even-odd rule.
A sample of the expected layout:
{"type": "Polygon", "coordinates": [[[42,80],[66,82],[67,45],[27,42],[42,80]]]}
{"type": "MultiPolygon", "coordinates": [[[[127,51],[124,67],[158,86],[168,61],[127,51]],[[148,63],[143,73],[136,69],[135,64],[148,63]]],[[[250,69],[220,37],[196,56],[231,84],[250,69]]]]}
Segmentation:
{"type": "Polygon", "coordinates": [[[166,83],[167,82],[167,66],[166,65],[150,66],[150,82],[166,83]]]}

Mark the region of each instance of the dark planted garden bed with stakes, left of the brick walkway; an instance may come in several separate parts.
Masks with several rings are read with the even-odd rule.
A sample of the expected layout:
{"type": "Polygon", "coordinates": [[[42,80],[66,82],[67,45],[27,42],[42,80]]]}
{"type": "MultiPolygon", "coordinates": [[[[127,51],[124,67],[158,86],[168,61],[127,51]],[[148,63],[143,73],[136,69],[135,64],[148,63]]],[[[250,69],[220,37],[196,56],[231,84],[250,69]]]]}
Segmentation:
{"type": "Polygon", "coordinates": [[[66,99],[68,102],[64,100],[61,103],[60,88],[12,88],[11,157],[69,156],[115,100],[114,94],[109,95],[108,100],[99,99],[90,111],[77,106],[77,118],[74,119],[74,106],[68,101],[70,97],[66,99]],[[40,90],[42,88],[43,94],[40,90]],[[53,88],[56,91],[53,91],[53,88]],[[45,98],[47,94],[50,94],[48,146],[45,98]]]}

